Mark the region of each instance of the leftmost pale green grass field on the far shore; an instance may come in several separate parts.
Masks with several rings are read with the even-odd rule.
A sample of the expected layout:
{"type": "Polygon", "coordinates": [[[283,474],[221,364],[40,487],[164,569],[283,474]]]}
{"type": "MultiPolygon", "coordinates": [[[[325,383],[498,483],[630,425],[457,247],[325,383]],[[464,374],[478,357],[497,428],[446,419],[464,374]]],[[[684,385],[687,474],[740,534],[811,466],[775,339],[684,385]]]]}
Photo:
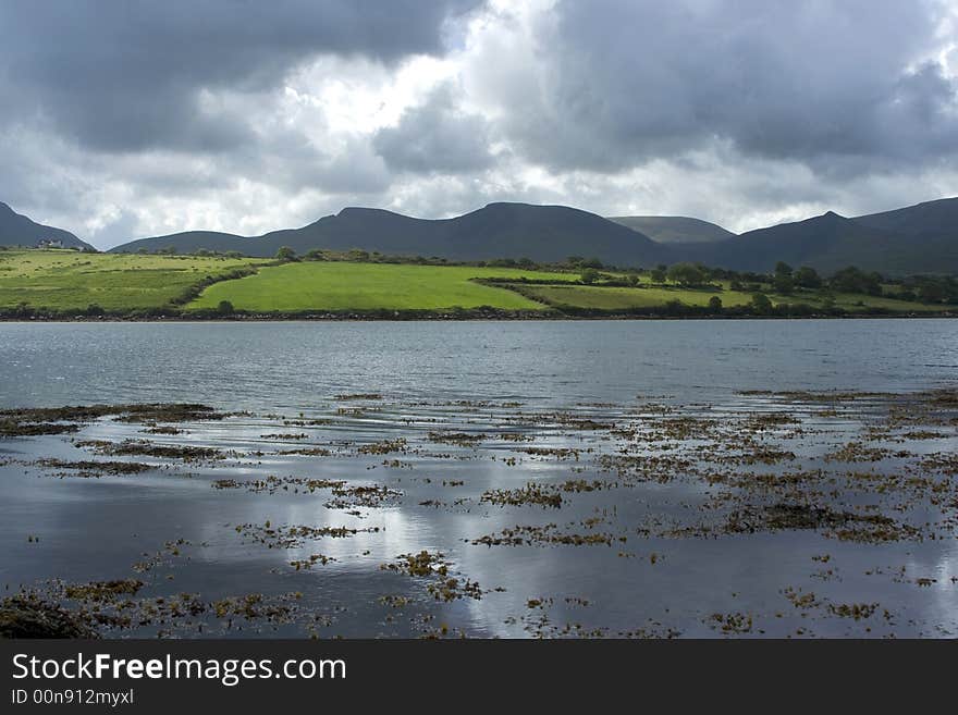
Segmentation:
{"type": "Polygon", "coordinates": [[[75,250],[0,251],[0,308],[106,310],[169,305],[208,275],[262,259],[82,254],[75,250]]]}

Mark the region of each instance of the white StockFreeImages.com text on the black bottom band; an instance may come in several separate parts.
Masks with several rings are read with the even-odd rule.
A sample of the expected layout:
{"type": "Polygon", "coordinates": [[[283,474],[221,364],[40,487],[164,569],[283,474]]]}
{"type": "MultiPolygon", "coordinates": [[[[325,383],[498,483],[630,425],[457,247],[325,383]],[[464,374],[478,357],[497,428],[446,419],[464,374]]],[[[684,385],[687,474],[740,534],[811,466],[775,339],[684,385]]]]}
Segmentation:
{"type": "Polygon", "coordinates": [[[228,688],[243,680],[345,679],[342,659],[292,658],[277,664],[271,658],[115,658],[109,653],[93,656],[40,658],[26,653],[13,656],[14,680],[214,680],[228,688]]]}

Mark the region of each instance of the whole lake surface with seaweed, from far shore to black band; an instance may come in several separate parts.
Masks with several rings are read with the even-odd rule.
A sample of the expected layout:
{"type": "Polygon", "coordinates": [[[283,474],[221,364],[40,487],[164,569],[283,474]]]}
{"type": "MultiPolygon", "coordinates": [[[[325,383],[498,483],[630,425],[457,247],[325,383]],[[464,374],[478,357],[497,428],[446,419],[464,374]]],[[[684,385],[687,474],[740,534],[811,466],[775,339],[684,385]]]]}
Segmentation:
{"type": "Polygon", "coordinates": [[[0,323],[0,408],[233,412],[0,437],[0,588],[142,581],[110,636],[958,633],[958,422],[901,402],[958,321],[0,323]]]}

